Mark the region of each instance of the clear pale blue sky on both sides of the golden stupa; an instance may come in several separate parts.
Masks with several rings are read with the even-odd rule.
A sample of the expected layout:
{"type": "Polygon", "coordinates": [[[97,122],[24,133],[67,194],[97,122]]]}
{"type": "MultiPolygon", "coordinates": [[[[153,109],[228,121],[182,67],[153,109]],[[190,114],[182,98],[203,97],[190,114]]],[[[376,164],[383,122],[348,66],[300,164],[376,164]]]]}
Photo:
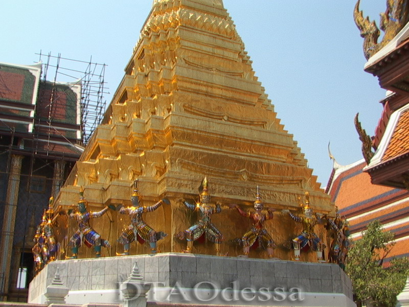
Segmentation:
{"type": "MultiPolygon", "coordinates": [[[[385,91],[363,72],[363,39],[353,20],[355,0],[223,0],[235,21],[253,69],[275,105],[278,118],[327,184],[332,163],[362,158],[353,119],[360,114],[370,135],[385,91]]],[[[21,1],[0,3],[0,62],[31,64],[38,53],[108,65],[110,102],[124,75],[152,0],[21,1]]],[[[379,25],[386,0],[361,0],[379,25]]],[[[72,81],[58,78],[58,81],[72,81]]]]}

